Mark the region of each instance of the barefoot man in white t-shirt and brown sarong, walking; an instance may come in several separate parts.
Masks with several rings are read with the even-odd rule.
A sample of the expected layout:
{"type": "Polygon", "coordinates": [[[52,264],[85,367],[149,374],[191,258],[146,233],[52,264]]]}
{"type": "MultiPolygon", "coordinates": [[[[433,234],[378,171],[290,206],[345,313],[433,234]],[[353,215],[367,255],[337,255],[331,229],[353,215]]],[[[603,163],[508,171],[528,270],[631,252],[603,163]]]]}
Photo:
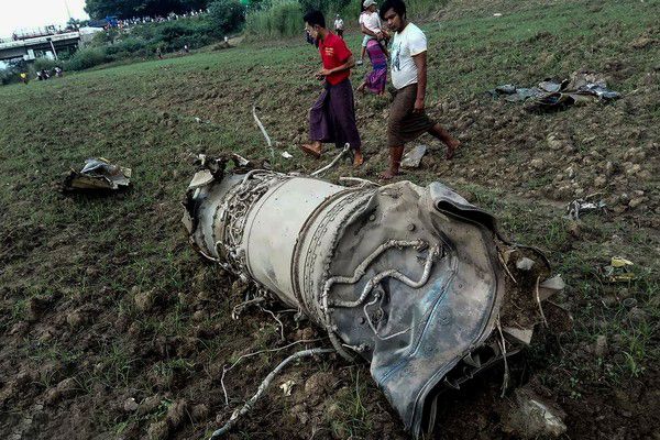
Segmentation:
{"type": "Polygon", "coordinates": [[[397,89],[387,123],[389,169],[383,178],[399,174],[404,146],[424,133],[429,133],[447,145],[447,160],[451,160],[461,144],[425,111],[427,88],[427,38],[424,32],[406,19],[406,3],[386,0],[381,7],[381,18],[394,34],[392,43],[392,82],[397,89]]]}

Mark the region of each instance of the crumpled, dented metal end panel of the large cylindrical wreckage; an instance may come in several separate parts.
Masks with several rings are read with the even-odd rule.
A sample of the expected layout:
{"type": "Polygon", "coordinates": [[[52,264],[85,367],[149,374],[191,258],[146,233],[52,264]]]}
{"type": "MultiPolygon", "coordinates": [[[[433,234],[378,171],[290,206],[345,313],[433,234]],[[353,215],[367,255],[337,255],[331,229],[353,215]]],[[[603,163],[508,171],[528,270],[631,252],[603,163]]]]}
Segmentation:
{"type": "Polygon", "coordinates": [[[388,240],[421,241],[428,246],[421,252],[408,248],[384,253],[362,282],[332,292],[342,299],[359,297],[366,280],[380,271],[396,268],[410,279],[420,279],[430,249],[440,251],[422,288],[387,278],[372,307],[336,308],[333,312],[343,341],[369,346],[363,355],[371,361],[372,376],[416,436],[428,428],[422,419],[429,395],[494,328],[504,271],[493,224],[486,212],[440,184],[422,189],[404,182],[375,190],[337,246],[332,275],[350,273],[388,240]],[[380,315],[377,333],[367,324],[370,312],[380,315]]]}

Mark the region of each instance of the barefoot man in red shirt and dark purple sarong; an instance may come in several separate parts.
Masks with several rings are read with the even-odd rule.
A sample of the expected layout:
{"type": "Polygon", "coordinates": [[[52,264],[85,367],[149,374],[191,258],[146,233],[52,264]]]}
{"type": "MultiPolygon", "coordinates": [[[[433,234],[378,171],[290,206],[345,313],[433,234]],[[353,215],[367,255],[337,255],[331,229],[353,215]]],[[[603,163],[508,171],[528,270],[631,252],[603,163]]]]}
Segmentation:
{"type": "Polygon", "coordinates": [[[324,90],[309,111],[310,144],[300,148],[320,157],[323,143],[334,143],[343,148],[348,143],[353,151],[353,165],[364,162],[362,142],[355,124],[353,87],[349,79],[355,66],[353,54],[346,43],[326,28],[326,18],[319,11],[305,15],[305,30],[319,44],[323,68],[317,74],[324,80],[324,90]]]}

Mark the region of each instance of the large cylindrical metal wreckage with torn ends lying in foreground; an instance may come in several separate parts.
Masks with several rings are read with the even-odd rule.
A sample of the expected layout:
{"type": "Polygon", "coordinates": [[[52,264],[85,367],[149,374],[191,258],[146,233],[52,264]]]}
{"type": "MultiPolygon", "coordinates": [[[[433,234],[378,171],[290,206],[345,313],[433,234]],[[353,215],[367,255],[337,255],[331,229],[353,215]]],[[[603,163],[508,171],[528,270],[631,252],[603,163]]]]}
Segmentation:
{"type": "Polygon", "coordinates": [[[201,158],[184,204],[196,249],[369,362],[415,438],[442,391],[529,344],[563,288],[539,251],[440,183],[346,187],[201,158]]]}

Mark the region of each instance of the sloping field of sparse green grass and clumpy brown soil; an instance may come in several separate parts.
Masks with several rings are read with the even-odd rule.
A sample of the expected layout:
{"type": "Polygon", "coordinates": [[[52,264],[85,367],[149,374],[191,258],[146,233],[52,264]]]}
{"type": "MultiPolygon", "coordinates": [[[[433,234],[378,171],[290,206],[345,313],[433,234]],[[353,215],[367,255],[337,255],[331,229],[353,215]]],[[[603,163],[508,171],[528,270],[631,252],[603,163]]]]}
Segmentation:
{"type": "MultiPolygon", "coordinates": [[[[447,163],[422,139],[431,154],[404,178],[457,188],[564,275],[569,288],[557,301],[573,314],[573,329],[535,340],[526,375],[565,410],[570,438],[660,431],[657,16],[652,0],[457,0],[422,23],[429,112],[463,148],[447,163]],[[541,114],[486,94],[576,70],[603,75],[624,98],[541,114]],[[594,193],[606,213],[562,218],[569,201],[594,193]],[[613,256],[635,262],[634,282],[606,282],[613,256]]],[[[359,35],[349,42],[359,50],[359,35]]],[[[239,364],[224,380],[224,406],[223,365],[286,342],[266,312],[231,319],[243,287],[189,248],[179,201],[197,153],[268,158],[285,172],[319,167],[297,148],[320,91],[317,69],[318,54],[301,40],[270,41],[0,88],[0,437],[202,438],[295,350],[239,364]],[[277,142],[275,157],[253,105],[277,142]],[[62,175],[94,156],[133,168],[133,188],[61,195],[62,175]],[[138,410],[125,407],[130,398],[138,410]]],[[[388,103],[358,97],[369,161],[330,178],[377,178],[388,103]]],[[[288,342],[322,338],[290,315],[282,320],[288,342]]],[[[363,365],[326,359],[277,384],[287,380],[294,394],[273,387],[235,438],[406,438],[363,365]],[[310,381],[327,385],[316,395],[310,381]]],[[[498,381],[452,398],[437,438],[512,438],[498,381]]]]}

